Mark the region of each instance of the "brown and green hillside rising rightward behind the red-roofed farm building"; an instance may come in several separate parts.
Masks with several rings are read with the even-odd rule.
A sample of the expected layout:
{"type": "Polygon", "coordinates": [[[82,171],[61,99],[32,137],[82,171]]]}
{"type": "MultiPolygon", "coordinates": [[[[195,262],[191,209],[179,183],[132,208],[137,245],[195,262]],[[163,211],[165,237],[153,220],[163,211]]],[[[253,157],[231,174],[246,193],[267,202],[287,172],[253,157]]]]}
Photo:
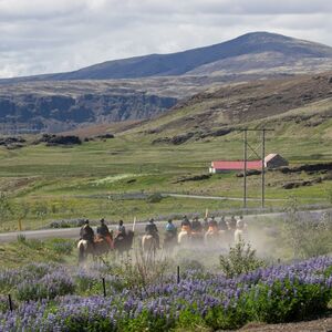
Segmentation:
{"type": "Polygon", "coordinates": [[[149,135],[156,143],[180,144],[262,125],[295,136],[331,138],[332,72],[210,90],[129,131],[149,135]]]}

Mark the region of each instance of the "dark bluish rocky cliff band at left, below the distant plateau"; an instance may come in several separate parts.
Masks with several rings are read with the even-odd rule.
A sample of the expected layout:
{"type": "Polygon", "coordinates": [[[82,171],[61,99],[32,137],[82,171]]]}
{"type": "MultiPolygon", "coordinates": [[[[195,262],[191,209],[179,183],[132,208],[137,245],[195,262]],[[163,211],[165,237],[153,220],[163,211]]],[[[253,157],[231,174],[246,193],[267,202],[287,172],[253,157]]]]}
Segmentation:
{"type": "Polygon", "coordinates": [[[0,129],[3,134],[62,132],[91,123],[148,118],[177,100],[134,90],[0,87],[0,129]]]}

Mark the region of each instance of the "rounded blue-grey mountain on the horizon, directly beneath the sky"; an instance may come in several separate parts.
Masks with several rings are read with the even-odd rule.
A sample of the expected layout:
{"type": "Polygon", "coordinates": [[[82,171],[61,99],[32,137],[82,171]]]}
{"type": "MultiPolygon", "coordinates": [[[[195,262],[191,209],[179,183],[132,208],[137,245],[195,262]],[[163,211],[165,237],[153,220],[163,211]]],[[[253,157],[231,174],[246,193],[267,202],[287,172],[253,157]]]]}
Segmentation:
{"type": "Polygon", "coordinates": [[[77,71],[2,80],[2,82],[44,80],[110,80],[211,74],[239,62],[250,69],[290,66],[302,61],[310,66],[331,69],[332,48],[269,32],[252,32],[219,44],[170,54],[149,54],[123,60],[106,61],[77,71]],[[235,62],[232,61],[235,60],[235,62]],[[248,65],[249,63],[249,65],[248,65]],[[252,65],[250,65],[252,63],[252,65]]]}

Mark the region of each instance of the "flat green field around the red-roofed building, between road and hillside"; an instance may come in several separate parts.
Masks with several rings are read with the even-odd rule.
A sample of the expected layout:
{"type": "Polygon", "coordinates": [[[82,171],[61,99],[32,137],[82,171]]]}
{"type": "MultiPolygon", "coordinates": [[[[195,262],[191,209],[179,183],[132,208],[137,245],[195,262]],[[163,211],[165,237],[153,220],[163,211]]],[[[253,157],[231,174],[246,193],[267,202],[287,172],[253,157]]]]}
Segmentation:
{"type": "MultiPolygon", "coordinates": [[[[252,146],[259,137],[250,137],[252,146]]],[[[120,135],[106,142],[89,142],[75,147],[29,145],[21,149],[0,148],[1,230],[46,227],[62,218],[105,217],[133,220],[169,214],[198,212],[240,208],[234,200],[203,200],[168,197],[159,203],[126,198],[131,193],[178,193],[242,197],[242,179],[235,173],[214,175],[205,180],[179,179],[208,173],[212,159],[241,159],[242,138],[239,134],[188,142],[179,146],[153,145],[152,137],[139,134],[120,135]],[[8,208],[7,208],[8,205],[8,208]]],[[[291,164],[332,160],[330,138],[310,141],[269,136],[267,153],[278,152],[291,164]]],[[[301,204],[326,204],[331,199],[331,181],[310,187],[282,189],[287,181],[313,179],[320,175],[304,173],[282,175],[268,173],[267,199],[294,196],[301,204]]],[[[248,196],[260,197],[260,176],[248,177],[248,196]]],[[[280,206],[282,201],[267,201],[280,206]]],[[[250,201],[258,207],[260,201],[250,201]]]]}

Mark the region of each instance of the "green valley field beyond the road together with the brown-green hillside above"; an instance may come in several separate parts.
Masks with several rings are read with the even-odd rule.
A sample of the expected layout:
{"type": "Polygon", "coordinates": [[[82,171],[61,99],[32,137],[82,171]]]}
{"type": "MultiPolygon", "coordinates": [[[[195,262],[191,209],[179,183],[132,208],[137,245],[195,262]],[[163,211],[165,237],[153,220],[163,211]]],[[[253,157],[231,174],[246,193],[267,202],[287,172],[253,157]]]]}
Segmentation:
{"type": "MultiPolygon", "coordinates": [[[[134,216],[166,218],[172,214],[201,215],[206,208],[241,208],[242,178],[235,173],[199,180],[190,177],[208,174],[211,160],[242,158],[242,133],[236,131],[239,127],[274,128],[267,134],[267,154],[279,153],[291,166],[332,162],[329,80],[328,73],[199,94],[151,122],[131,125],[129,129],[122,126],[123,132],[113,139],[90,141],[72,147],[29,143],[18,149],[1,147],[0,190],[4,196],[0,203],[0,229],[17,229],[19,219],[23,220],[24,228],[40,228],[49,226],[51,220],[80,217],[128,221],[134,216]],[[219,135],[218,129],[230,132],[221,131],[219,135]],[[188,133],[193,135],[187,137],[188,133]],[[186,139],[170,139],[178,136],[186,139]],[[151,203],[146,196],[154,193],[239,200],[167,197],[151,203]]],[[[84,136],[84,129],[81,135],[84,136]]],[[[250,133],[248,138],[252,147],[259,148],[259,135],[250,133]]],[[[29,142],[34,139],[28,137],[29,142]]],[[[250,153],[249,157],[256,158],[250,153]]],[[[267,207],[283,206],[290,196],[297,197],[299,204],[326,205],[332,199],[331,178],[329,169],[268,172],[267,207]],[[283,188],[284,184],[303,181],[309,185],[283,188]]],[[[259,207],[259,175],[248,177],[248,195],[257,198],[248,203],[249,207],[259,207]]]]}

